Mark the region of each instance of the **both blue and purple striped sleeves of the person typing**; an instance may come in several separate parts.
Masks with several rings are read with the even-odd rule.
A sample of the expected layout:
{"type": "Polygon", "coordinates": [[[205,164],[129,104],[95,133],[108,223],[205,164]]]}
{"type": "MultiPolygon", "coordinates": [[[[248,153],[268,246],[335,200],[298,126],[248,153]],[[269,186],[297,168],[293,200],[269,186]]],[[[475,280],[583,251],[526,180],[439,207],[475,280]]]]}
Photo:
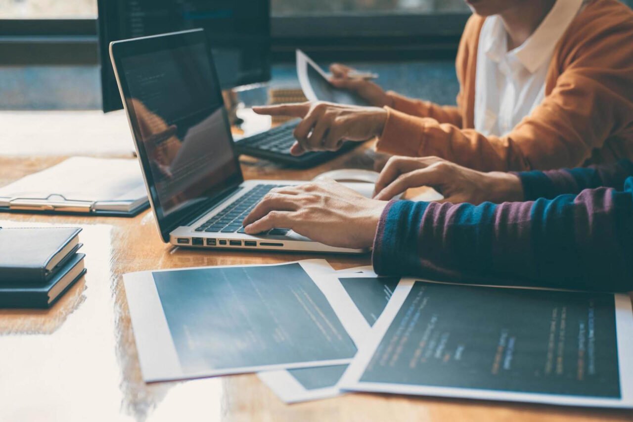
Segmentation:
{"type": "Polygon", "coordinates": [[[378,274],[460,283],[633,290],[633,163],[518,173],[525,202],[391,201],[378,274]]]}

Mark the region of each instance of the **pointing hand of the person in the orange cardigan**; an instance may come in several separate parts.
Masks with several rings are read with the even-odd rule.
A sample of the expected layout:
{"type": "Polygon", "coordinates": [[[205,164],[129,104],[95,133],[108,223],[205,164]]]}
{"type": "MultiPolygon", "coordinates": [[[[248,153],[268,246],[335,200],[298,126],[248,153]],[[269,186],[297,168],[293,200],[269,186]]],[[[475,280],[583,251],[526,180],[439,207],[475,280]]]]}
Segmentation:
{"type": "Polygon", "coordinates": [[[333,103],[289,103],[253,107],[258,114],[302,117],[294,129],[297,142],[292,155],[306,151],[336,151],[344,141],[367,141],[380,136],[387,112],[378,107],[358,107],[333,103]]]}

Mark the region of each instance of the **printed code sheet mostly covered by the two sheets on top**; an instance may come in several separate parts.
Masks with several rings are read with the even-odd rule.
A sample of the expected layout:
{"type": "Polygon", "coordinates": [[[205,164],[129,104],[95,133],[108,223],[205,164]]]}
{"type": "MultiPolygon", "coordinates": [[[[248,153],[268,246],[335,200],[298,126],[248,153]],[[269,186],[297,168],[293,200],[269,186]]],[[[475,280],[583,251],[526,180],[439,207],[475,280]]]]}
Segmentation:
{"type": "MultiPolygon", "coordinates": [[[[330,283],[337,285],[339,290],[342,288],[342,294],[351,298],[353,306],[363,315],[365,327],[355,333],[361,339],[367,337],[371,326],[389,302],[398,280],[398,277],[379,278],[375,274],[362,272],[335,272],[330,278],[330,283]]],[[[289,369],[260,372],[258,376],[280,399],[294,403],[339,395],[341,390],[338,383],[346,368],[347,365],[289,369]]]]}

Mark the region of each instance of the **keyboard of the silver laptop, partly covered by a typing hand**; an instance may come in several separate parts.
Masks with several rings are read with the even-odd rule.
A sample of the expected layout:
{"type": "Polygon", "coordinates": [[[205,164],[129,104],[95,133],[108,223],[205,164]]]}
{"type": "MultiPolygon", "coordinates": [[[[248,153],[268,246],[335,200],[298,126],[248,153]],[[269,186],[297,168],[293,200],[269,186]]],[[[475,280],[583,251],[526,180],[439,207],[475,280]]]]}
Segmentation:
{"type": "MultiPolygon", "coordinates": [[[[218,214],[213,215],[201,226],[196,227],[196,231],[206,231],[210,233],[244,233],[242,221],[253,210],[255,205],[263,198],[270,189],[280,188],[285,185],[281,184],[258,184],[255,185],[245,195],[232,202],[228,207],[224,208],[218,214]]],[[[273,229],[273,231],[283,229],[273,229]]],[[[287,232],[287,230],[285,230],[287,232]]],[[[285,234],[285,233],[270,233],[285,234]]]]}

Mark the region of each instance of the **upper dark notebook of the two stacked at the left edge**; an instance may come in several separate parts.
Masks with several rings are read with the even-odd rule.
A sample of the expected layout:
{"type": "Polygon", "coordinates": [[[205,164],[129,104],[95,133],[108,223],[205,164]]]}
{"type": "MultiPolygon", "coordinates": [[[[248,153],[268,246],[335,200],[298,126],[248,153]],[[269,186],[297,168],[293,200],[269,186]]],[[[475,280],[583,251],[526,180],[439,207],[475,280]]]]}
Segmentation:
{"type": "Polygon", "coordinates": [[[0,286],[50,281],[81,244],[77,227],[0,228],[0,286]]]}

